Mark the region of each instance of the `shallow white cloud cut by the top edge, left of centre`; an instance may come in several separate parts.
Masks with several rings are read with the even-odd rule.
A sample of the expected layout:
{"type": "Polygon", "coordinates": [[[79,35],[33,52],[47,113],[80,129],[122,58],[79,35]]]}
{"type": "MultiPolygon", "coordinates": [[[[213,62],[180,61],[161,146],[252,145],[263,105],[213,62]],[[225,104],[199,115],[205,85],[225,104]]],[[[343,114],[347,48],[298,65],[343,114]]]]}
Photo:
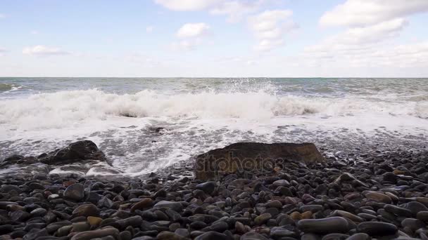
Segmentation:
{"type": "Polygon", "coordinates": [[[200,11],[220,4],[222,0],[155,0],[155,2],[172,11],[200,11]]]}

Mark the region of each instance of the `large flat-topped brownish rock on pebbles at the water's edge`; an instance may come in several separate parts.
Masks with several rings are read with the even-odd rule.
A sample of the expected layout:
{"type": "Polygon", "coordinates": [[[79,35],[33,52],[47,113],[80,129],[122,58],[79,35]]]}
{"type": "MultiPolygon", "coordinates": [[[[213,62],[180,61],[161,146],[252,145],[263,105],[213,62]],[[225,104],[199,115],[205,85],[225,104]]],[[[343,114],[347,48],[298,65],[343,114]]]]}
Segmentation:
{"type": "Polygon", "coordinates": [[[323,161],[313,143],[260,143],[238,142],[224,148],[213,149],[196,156],[196,178],[208,180],[222,173],[238,170],[272,168],[274,161],[301,161],[311,164],[323,161]]]}

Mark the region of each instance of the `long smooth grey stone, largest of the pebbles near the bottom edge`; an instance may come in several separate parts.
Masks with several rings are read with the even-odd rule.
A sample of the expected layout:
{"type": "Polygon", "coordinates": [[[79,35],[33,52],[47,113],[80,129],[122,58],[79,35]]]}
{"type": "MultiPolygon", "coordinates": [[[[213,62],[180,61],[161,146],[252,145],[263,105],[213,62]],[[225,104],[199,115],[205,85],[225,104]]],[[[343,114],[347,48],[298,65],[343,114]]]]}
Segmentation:
{"type": "Polygon", "coordinates": [[[343,233],[348,232],[348,221],[342,217],[303,219],[297,222],[297,227],[302,232],[315,234],[343,233]]]}

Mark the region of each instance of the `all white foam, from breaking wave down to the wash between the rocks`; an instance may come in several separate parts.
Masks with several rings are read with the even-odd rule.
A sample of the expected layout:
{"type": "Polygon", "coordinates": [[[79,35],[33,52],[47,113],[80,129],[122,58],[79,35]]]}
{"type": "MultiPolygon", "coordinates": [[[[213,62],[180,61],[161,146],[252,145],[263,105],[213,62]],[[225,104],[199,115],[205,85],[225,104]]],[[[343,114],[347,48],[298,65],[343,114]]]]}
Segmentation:
{"type": "MultiPolygon", "coordinates": [[[[369,133],[379,126],[419,134],[428,131],[427,119],[423,96],[403,99],[394,93],[287,95],[260,88],[115,94],[94,88],[0,100],[0,143],[11,141],[16,152],[40,154],[65,140],[87,138],[116,167],[139,175],[232,142],[315,139],[299,136],[294,128],[314,135],[323,131],[316,134],[325,138],[334,138],[329,133],[340,128],[369,133]],[[153,133],[158,126],[168,131],[153,133]],[[288,134],[278,132],[279,126],[286,126],[288,134]]],[[[98,173],[92,169],[88,174],[98,173]]]]}

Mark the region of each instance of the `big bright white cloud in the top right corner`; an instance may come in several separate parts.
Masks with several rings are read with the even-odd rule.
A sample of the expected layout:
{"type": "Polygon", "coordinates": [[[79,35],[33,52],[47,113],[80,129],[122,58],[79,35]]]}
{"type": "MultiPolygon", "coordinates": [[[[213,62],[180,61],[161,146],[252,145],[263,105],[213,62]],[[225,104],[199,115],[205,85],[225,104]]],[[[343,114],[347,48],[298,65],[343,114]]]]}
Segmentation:
{"type": "Polygon", "coordinates": [[[427,0],[347,0],[324,13],[320,24],[363,27],[424,11],[427,0]]]}

